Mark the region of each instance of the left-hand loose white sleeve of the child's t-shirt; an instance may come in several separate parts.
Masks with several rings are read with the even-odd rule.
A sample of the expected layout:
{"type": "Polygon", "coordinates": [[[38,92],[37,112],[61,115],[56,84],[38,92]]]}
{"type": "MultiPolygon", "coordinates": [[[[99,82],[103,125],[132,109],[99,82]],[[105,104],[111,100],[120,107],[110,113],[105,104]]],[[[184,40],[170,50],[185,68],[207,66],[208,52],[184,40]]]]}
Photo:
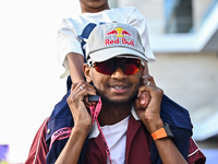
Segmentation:
{"type": "Polygon", "coordinates": [[[59,60],[65,68],[65,72],[61,75],[64,78],[69,74],[69,65],[66,55],[69,52],[76,52],[83,56],[80,39],[73,26],[72,19],[63,19],[58,28],[58,55],[59,60]]]}

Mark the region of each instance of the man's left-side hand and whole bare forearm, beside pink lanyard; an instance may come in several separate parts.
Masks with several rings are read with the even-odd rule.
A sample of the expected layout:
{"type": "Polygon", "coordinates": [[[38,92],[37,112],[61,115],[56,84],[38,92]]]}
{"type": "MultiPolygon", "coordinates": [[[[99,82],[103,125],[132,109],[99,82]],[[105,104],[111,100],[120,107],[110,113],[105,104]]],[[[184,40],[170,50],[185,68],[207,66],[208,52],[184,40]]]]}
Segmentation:
{"type": "Polygon", "coordinates": [[[73,115],[74,127],[56,164],[77,164],[85,139],[92,128],[92,117],[84,101],[87,102],[87,96],[95,94],[94,86],[83,80],[72,84],[71,94],[66,102],[73,115]]]}

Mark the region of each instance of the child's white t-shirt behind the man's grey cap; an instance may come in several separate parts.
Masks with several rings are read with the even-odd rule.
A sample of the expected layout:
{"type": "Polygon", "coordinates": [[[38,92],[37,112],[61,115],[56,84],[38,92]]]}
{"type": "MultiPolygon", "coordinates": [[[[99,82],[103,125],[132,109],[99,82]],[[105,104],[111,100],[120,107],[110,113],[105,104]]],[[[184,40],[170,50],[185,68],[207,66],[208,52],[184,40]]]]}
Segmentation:
{"type": "Polygon", "coordinates": [[[69,75],[69,66],[68,60],[65,58],[66,55],[69,52],[76,52],[83,55],[81,48],[82,39],[78,37],[78,35],[82,35],[84,30],[87,30],[86,27],[90,27],[90,23],[99,25],[101,23],[109,23],[113,21],[135,26],[141,35],[146,57],[149,61],[155,61],[155,56],[149,45],[146,20],[136,8],[124,7],[104,10],[97,13],[81,13],[72,17],[63,19],[59,25],[59,59],[65,68],[65,73],[62,75],[62,78],[69,75]]]}

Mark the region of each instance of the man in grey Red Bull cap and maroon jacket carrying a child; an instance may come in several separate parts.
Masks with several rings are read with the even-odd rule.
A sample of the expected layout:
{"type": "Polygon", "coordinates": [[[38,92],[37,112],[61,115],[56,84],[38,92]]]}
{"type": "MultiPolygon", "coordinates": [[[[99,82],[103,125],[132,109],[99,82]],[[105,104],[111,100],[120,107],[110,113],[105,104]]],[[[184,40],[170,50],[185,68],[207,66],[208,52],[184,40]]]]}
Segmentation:
{"type": "MultiPolygon", "coordinates": [[[[34,155],[29,155],[26,163],[33,163],[29,159],[43,163],[46,156],[47,163],[57,164],[187,163],[187,155],[179,151],[178,144],[175,147],[170,120],[160,118],[161,102],[166,99],[164,92],[156,86],[153,77],[144,75],[148,72],[147,58],[137,30],[121,23],[95,27],[86,44],[86,59],[87,82],[74,83],[68,96],[73,128],[60,128],[49,139],[40,134],[45,130],[39,132],[38,143],[43,143],[33,144],[29,154],[34,155]],[[142,98],[144,106],[138,98],[142,93],[146,93],[142,98]],[[100,96],[97,103],[87,101],[96,94],[100,96]],[[64,144],[58,142],[63,139],[66,139],[64,144]],[[37,151],[33,151],[34,148],[37,151]],[[57,153],[60,155],[56,159],[57,153]]],[[[62,122],[68,121],[66,117],[62,119],[62,122]]],[[[189,163],[205,163],[199,150],[195,149],[194,154],[197,155],[190,154],[189,163]]]]}

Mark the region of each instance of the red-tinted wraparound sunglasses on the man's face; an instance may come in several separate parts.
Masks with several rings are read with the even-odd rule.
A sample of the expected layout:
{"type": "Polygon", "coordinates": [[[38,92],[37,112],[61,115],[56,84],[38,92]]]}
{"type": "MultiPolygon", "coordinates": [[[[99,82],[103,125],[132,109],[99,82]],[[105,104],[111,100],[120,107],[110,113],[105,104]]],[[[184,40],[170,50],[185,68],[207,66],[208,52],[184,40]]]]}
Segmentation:
{"type": "Polygon", "coordinates": [[[94,62],[93,65],[97,72],[107,75],[111,75],[118,67],[120,67],[126,75],[135,74],[140,71],[142,66],[140,59],[133,58],[112,58],[102,62],[94,62]]]}

